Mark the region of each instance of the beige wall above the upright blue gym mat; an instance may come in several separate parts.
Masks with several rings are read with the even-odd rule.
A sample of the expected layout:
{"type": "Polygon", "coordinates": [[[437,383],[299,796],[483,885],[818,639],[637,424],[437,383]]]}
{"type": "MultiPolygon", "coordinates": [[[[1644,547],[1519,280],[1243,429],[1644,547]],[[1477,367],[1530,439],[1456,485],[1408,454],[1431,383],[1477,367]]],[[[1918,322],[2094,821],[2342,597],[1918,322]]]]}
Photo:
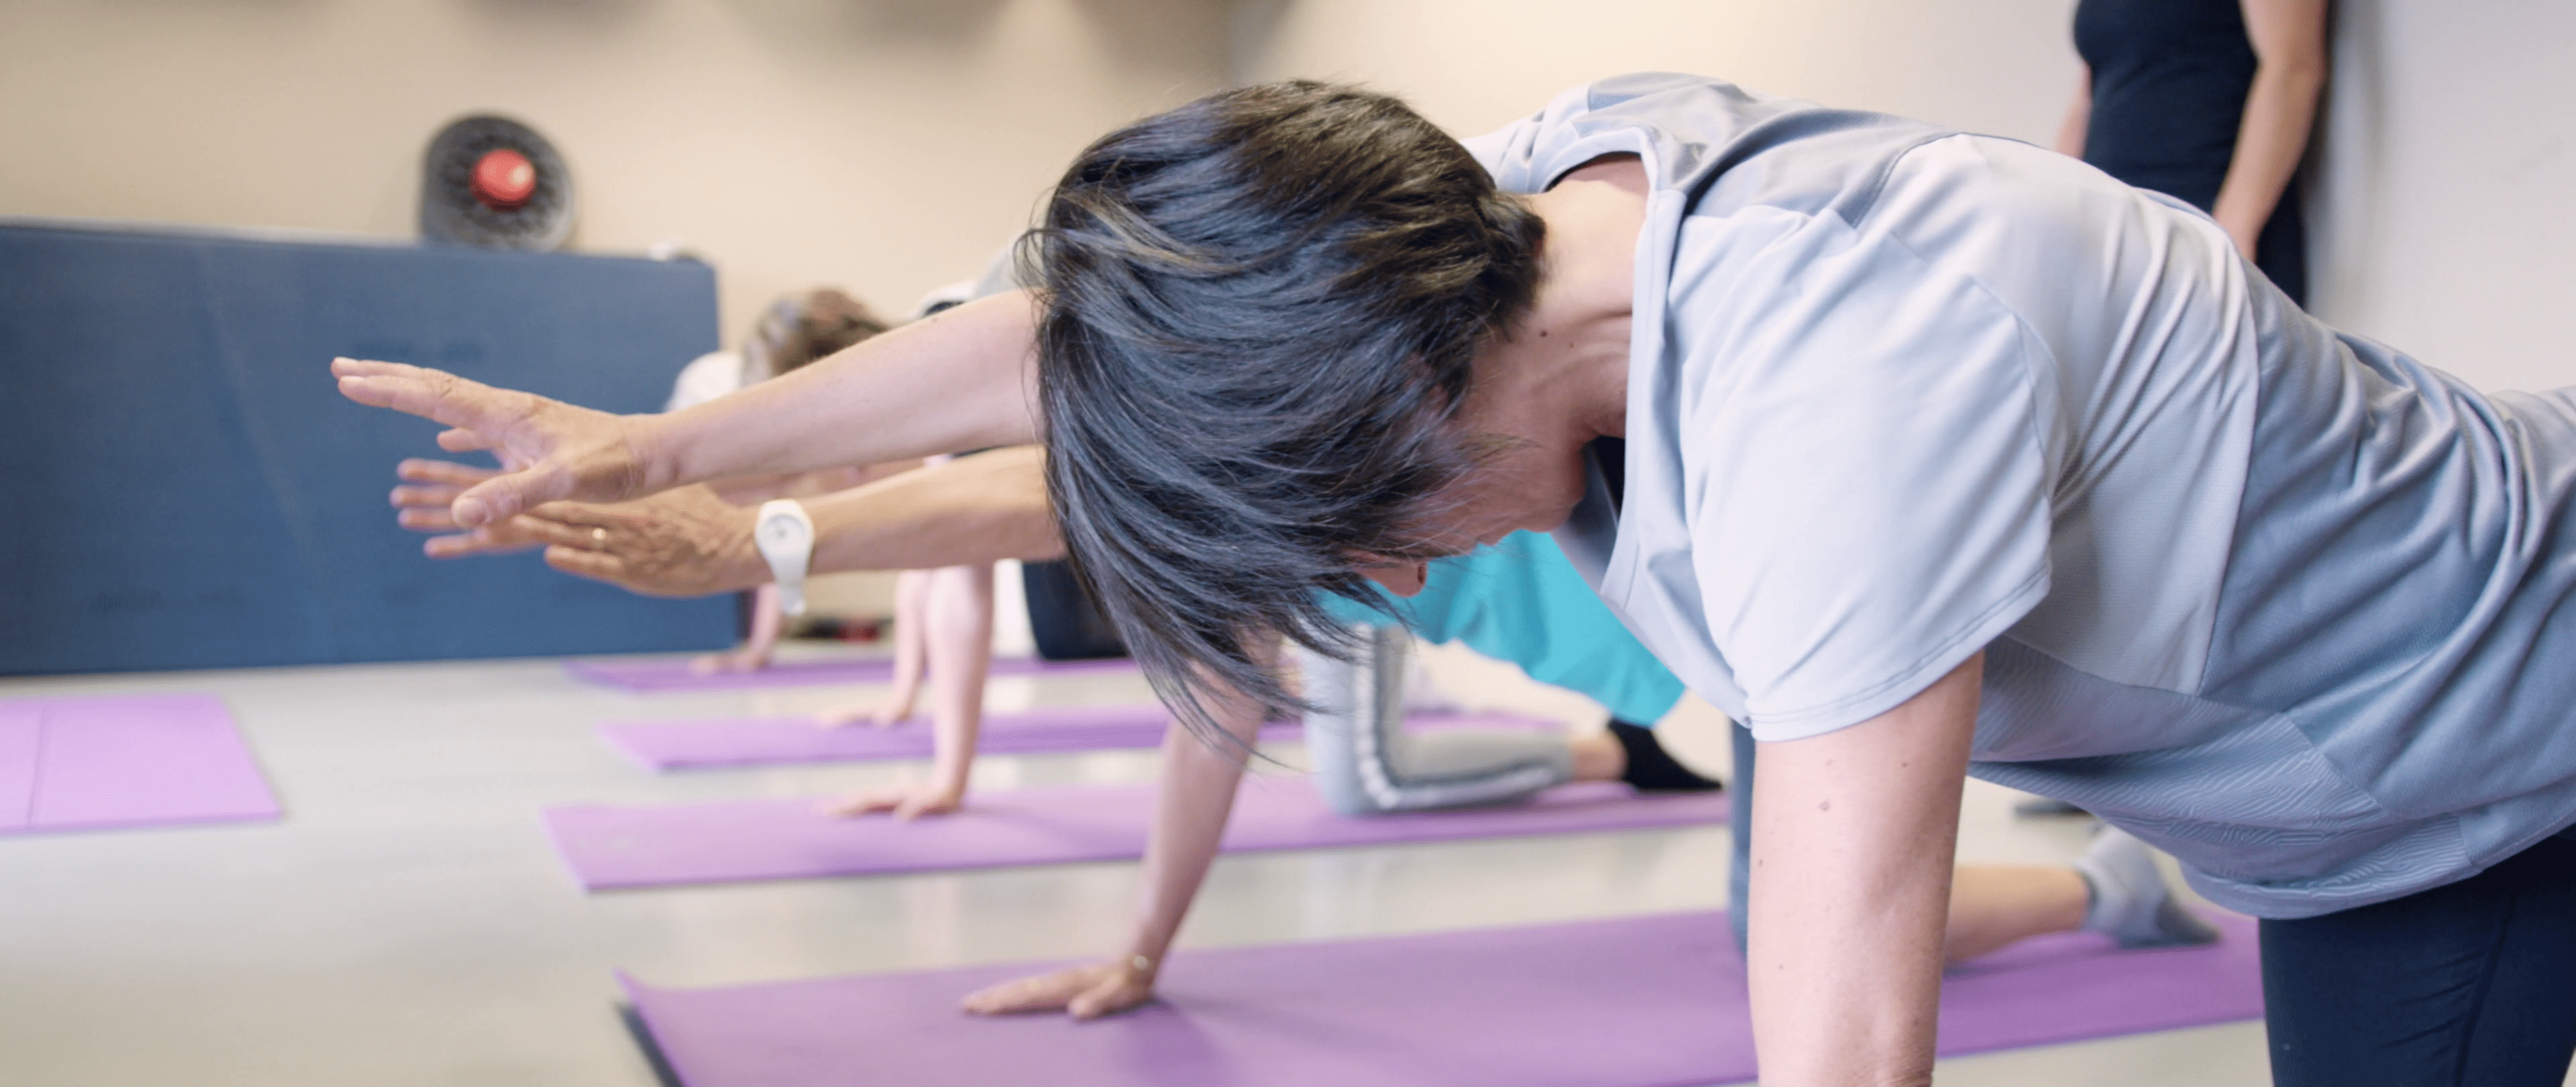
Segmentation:
{"type": "Polygon", "coordinates": [[[415,234],[420,149],[505,111],[577,250],[683,237],[724,335],[976,273],[1095,134],[1224,82],[1221,0],[0,0],[0,214],[415,234]]]}

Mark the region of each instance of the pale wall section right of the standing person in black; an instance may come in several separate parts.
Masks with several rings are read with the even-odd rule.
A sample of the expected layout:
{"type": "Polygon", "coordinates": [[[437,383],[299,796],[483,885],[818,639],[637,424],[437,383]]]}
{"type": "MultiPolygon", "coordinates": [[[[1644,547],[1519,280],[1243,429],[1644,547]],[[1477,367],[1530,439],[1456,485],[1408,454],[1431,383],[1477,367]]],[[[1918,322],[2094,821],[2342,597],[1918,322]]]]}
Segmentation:
{"type": "Polygon", "coordinates": [[[2336,5],[2321,317],[2488,389],[2576,384],[2571,49],[2566,0],[2336,5]]]}

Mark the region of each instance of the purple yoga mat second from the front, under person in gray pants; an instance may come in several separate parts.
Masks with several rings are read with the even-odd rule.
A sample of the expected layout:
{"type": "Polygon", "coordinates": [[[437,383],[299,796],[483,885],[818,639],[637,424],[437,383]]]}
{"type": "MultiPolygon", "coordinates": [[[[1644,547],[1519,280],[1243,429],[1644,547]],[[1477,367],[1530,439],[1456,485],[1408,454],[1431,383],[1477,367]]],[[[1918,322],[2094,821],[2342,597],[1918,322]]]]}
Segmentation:
{"type": "MultiPolygon", "coordinates": [[[[546,832],[585,889],[886,876],[958,868],[1136,860],[1154,786],[976,793],[966,811],[894,822],[837,819],[817,799],[546,809],[546,832]]],[[[1726,822],[1726,793],[1638,796],[1564,786],[1528,804],[1350,819],[1303,778],[1247,778],[1226,850],[1329,850],[1461,837],[1582,835],[1726,822]]]]}

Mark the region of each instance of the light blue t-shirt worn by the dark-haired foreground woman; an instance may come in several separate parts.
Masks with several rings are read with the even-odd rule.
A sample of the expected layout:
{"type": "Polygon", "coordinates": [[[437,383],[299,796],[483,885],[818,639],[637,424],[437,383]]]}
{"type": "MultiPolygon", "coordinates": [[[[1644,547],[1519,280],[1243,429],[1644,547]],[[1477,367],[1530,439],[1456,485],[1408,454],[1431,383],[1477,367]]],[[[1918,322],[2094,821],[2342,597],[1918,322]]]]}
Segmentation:
{"type": "Polygon", "coordinates": [[[1623,507],[1556,533],[1762,739],[1986,652],[1973,773],[2308,917],[2576,822],[2576,399],[2344,337],[2061,155],[1682,75],[1468,144],[1641,155],[1623,507]]]}

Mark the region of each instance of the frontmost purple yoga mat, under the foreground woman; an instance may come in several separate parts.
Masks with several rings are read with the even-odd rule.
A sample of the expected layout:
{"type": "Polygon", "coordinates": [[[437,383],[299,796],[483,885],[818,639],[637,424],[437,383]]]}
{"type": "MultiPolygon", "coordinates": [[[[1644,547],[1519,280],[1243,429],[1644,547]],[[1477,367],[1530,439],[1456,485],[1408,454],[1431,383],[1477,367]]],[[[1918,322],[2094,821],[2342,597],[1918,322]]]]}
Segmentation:
{"type": "MultiPolygon", "coordinates": [[[[2262,1015],[2254,922],[2208,948],[2050,935],[1942,981],[1942,1054],[2262,1015]]],[[[1703,1087],[1754,1077],[1723,914],[1190,950],[1100,1023],[958,997],[1051,963],[729,989],[621,979],[688,1087],[1703,1087]]]]}

